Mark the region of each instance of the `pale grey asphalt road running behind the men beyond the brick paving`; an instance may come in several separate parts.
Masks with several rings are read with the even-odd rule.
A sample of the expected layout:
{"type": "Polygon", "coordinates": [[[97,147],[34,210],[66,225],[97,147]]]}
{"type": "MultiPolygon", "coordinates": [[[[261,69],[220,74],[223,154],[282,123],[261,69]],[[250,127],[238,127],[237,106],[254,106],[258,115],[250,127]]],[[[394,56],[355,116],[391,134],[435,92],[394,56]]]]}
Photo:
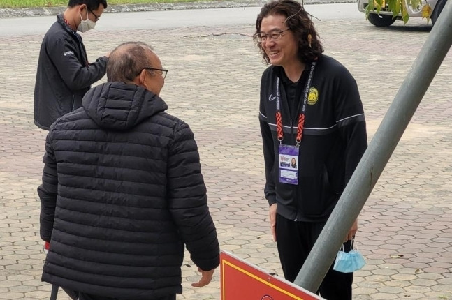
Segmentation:
{"type": "MultiPolygon", "coordinates": [[[[356,3],[309,4],[306,10],[319,20],[363,20],[356,3]]],[[[96,31],[217,27],[254,24],[260,7],[105,13],[96,31]]],[[[315,19],[314,19],[315,20],[315,19]]],[[[0,36],[26,36],[45,33],[55,17],[0,18],[0,36]],[[33,24],[33,26],[30,26],[33,24]]]]}

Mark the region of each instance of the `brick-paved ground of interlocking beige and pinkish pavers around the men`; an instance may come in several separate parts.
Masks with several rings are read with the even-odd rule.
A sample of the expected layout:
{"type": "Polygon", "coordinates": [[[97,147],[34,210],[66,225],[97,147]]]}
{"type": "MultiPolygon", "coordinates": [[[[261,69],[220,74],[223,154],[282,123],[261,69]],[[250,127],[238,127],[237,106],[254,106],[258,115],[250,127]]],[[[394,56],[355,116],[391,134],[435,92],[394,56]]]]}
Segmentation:
{"type": "MultiPolygon", "coordinates": [[[[221,248],[281,274],[262,196],[257,115],[265,66],[249,38],[253,21],[240,27],[94,30],[84,38],[91,59],[126,40],[154,45],[170,70],[161,96],[196,135],[221,248]]],[[[430,27],[418,20],[388,29],[365,20],[316,24],[326,53],[356,77],[371,140],[430,27]]],[[[0,38],[1,300],[50,295],[40,279],[36,198],[45,132],[33,124],[32,102],[42,38],[0,38]]],[[[354,299],[452,299],[451,67],[449,54],[361,213],[358,248],[367,265],[356,272],[354,299]]],[[[188,257],[186,262],[184,296],[178,299],[219,299],[218,271],[211,285],[194,290],[190,283],[198,274],[188,257]]]]}

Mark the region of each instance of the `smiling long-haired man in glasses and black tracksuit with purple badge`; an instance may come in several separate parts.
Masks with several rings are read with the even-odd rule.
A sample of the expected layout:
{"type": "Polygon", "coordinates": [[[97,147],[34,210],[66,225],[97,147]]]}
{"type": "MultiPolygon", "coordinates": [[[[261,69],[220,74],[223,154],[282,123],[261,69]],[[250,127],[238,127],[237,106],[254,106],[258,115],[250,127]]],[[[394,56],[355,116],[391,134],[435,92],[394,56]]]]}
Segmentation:
{"type": "MultiPolygon", "coordinates": [[[[363,105],[349,71],[323,54],[298,1],[265,4],[254,38],[272,65],[259,107],[265,197],[284,276],[293,282],[367,147],[363,105]]],[[[357,227],[344,237],[346,251],[357,227]]],[[[330,268],[319,293],[351,300],[352,282],[353,273],[330,268]]]]}

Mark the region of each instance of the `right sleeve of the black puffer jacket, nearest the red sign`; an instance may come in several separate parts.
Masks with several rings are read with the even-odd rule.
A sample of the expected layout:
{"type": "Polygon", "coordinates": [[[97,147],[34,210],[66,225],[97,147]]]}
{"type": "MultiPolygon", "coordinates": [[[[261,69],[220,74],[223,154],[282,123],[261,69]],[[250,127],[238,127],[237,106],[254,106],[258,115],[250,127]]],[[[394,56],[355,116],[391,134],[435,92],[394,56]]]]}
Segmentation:
{"type": "Polygon", "coordinates": [[[204,271],[218,267],[217,230],[207,207],[198,147],[183,122],[168,149],[168,206],[191,260],[204,271]]]}

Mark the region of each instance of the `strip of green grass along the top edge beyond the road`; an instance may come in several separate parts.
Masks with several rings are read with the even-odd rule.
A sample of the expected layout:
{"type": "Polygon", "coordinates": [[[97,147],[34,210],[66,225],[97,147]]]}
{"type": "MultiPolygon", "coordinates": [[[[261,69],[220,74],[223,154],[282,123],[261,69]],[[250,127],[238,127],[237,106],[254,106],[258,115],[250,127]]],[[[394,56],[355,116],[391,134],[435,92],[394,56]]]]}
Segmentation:
{"type": "MultiPolygon", "coordinates": [[[[133,4],[133,3],[175,3],[196,2],[201,0],[108,0],[108,5],[133,4]]],[[[0,8],[29,8],[67,6],[68,0],[0,0],[0,8]]]]}

